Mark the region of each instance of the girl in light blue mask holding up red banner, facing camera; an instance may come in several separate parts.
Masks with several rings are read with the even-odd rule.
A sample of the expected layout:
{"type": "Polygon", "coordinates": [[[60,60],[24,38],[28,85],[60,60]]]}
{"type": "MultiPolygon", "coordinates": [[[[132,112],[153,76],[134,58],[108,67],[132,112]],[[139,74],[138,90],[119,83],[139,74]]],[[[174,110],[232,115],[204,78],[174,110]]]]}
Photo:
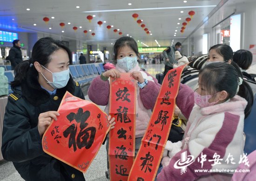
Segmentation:
{"type": "MultiPolygon", "coordinates": [[[[120,73],[130,73],[130,75],[137,80],[137,116],[135,129],[135,154],[137,153],[142,136],[144,135],[148,122],[151,116],[151,109],[154,108],[156,98],[160,91],[161,85],[157,80],[142,71],[138,64],[139,51],[136,41],[130,37],[121,37],[115,41],[114,54],[116,61],[116,68],[108,70],[96,77],[88,90],[88,96],[95,104],[106,106],[105,112],[108,113],[108,99],[109,99],[109,77],[119,78],[120,73]]],[[[107,139],[108,151],[108,139],[107,139]]]]}

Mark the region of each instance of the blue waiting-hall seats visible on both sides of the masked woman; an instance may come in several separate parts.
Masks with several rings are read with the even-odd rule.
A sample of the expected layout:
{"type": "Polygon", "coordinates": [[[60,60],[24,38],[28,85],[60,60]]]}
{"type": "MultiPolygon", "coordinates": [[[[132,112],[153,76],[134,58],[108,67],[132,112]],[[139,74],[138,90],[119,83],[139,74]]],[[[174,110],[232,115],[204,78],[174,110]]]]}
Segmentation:
{"type": "MultiPolygon", "coordinates": [[[[79,82],[81,86],[89,84],[97,75],[105,72],[103,63],[71,65],[69,66],[69,70],[73,79],[79,82]]],[[[11,94],[13,91],[11,89],[10,82],[14,80],[14,71],[6,70],[5,75],[8,78],[8,91],[9,94],[11,94]]]]}

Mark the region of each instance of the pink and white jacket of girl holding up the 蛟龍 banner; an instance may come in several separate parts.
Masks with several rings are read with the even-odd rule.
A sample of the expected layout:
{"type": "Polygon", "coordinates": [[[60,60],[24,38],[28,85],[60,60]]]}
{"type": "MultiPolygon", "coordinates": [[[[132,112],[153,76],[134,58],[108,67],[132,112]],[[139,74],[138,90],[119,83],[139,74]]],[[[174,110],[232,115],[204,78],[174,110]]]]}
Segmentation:
{"type": "MultiPolygon", "coordinates": [[[[118,65],[116,65],[116,69],[125,73],[125,70],[121,69],[118,65]]],[[[140,71],[138,63],[135,68],[131,69],[129,73],[134,71],[140,71]]],[[[143,89],[137,88],[137,116],[135,122],[135,137],[142,137],[148,127],[148,122],[150,116],[152,114],[152,109],[155,106],[156,98],[159,94],[161,85],[157,83],[157,79],[149,75],[145,71],[140,71],[143,78],[148,80],[148,85],[143,89]]],[[[94,78],[91,82],[91,85],[88,89],[88,96],[91,101],[93,101],[97,105],[106,106],[105,112],[108,114],[109,112],[109,81],[101,80],[100,76],[94,78]]]]}

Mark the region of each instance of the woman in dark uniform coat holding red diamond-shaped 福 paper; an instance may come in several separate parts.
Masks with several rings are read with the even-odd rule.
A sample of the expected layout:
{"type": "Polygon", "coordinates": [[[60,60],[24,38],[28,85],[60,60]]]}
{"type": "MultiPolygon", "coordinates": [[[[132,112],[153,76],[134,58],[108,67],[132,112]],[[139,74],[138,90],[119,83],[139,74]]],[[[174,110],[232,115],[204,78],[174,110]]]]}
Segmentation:
{"type": "Polygon", "coordinates": [[[69,74],[71,57],[61,41],[42,38],[35,43],[32,58],[15,68],[13,94],[4,116],[2,154],[26,181],[85,180],[82,172],[42,149],[42,135],[51,120],[57,120],[66,91],[84,99],[78,82],[69,74]]]}

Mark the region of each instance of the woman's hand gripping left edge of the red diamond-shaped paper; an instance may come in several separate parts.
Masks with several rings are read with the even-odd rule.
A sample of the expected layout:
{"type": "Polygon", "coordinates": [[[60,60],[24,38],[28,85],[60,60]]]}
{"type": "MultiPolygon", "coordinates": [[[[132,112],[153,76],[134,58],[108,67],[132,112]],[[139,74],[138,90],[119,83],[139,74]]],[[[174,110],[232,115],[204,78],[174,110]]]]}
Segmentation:
{"type": "Polygon", "coordinates": [[[57,111],[47,111],[45,113],[39,114],[37,128],[41,137],[46,131],[47,127],[51,124],[52,119],[56,121],[57,116],[59,115],[60,114],[57,111]]]}

